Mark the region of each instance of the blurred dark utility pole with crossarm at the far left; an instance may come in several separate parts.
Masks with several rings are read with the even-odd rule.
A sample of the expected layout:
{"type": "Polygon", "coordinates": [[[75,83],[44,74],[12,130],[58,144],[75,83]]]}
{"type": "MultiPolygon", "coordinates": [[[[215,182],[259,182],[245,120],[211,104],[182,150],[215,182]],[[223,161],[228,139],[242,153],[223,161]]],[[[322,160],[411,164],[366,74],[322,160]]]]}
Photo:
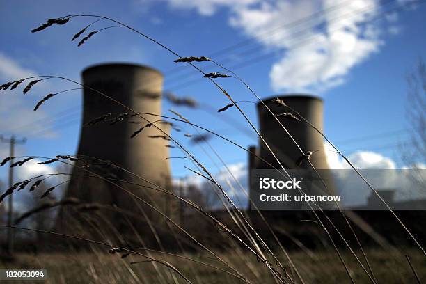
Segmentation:
{"type": "MultiPolygon", "coordinates": [[[[3,143],[9,143],[9,157],[13,157],[15,155],[15,144],[24,144],[26,142],[26,138],[16,139],[14,135],[10,136],[10,138],[5,138],[3,135],[0,135],[0,141],[3,143]]],[[[10,165],[13,164],[13,158],[10,160],[10,165]]],[[[13,168],[9,167],[9,188],[13,187],[13,168]]],[[[13,226],[13,194],[9,194],[8,196],[8,226],[13,226]]],[[[13,255],[13,228],[8,228],[8,255],[13,255]]]]}

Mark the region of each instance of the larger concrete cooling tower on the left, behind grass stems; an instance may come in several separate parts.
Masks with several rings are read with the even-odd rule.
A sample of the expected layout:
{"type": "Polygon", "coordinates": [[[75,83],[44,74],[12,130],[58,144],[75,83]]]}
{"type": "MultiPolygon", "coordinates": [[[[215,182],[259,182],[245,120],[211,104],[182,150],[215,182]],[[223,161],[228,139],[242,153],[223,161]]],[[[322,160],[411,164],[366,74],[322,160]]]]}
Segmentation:
{"type": "MultiPolygon", "coordinates": [[[[153,68],[132,64],[95,65],[82,72],[82,79],[85,86],[109,95],[136,112],[161,114],[163,76],[153,68]]],[[[149,183],[171,190],[170,165],[166,159],[169,156],[167,147],[169,141],[161,138],[164,133],[151,126],[145,127],[141,133],[131,138],[136,130],[148,122],[138,116],[126,117],[123,113],[131,115],[132,112],[88,88],[84,89],[83,109],[83,127],[77,154],[86,158],[76,162],[64,198],[72,197],[77,198],[80,203],[95,204],[95,207],[99,207],[98,212],[102,210],[100,214],[102,218],[113,224],[116,230],[123,231],[123,228],[129,228],[128,221],[125,220],[132,220],[136,230],[139,231],[145,228],[147,219],[155,222],[164,220],[148,205],[119,188],[125,188],[161,212],[170,214],[172,207],[169,203],[170,197],[153,190],[152,187],[155,186],[149,183]],[[111,113],[108,119],[85,126],[94,118],[107,113],[111,113]],[[113,118],[120,115],[123,115],[124,119],[113,123],[113,118]],[[111,165],[108,161],[117,166],[111,165]],[[80,168],[86,165],[88,168],[85,170],[108,177],[111,179],[110,182],[88,176],[90,174],[80,168]],[[118,184],[119,187],[111,182],[118,184]],[[114,212],[114,208],[136,216],[127,213],[124,216],[123,212],[114,212]]],[[[161,121],[161,118],[145,114],[142,116],[150,122],[156,122],[155,125],[164,132],[169,132],[170,125],[161,121]]],[[[81,207],[84,208],[83,205],[81,207]]],[[[61,208],[56,222],[57,231],[74,230],[72,222],[77,223],[73,226],[80,226],[79,224],[84,222],[90,223],[90,220],[85,218],[93,218],[94,214],[80,214],[78,208],[78,206],[61,208]]],[[[92,223],[99,224],[99,222],[92,223]]],[[[102,234],[102,230],[99,233],[102,234]]]]}

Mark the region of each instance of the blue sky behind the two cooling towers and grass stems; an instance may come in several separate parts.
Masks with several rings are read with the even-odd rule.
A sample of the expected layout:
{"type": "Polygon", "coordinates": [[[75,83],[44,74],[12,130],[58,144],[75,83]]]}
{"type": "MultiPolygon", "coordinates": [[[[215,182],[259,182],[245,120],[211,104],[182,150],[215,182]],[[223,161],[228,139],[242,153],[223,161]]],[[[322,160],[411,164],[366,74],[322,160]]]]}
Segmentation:
{"type": "MultiPolygon", "coordinates": [[[[321,96],[326,135],[358,165],[404,166],[398,144],[408,139],[405,76],[419,56],[425,58],[423,2],[17,0],[2,1],[0,7],[1,81],[27,74],[57,74],[79,80],[79,73],[88,65],[125,61],[161,70],[165,90],[193,97],[204,107],[219,109],[228,103],[189,66],[176,70],[174,56],[125,29],[97,34],[82,47],[70,38],[88,23],[87,19],[73,19],[40,33],[29,32],[52,17],[72,13],[106,15],[134,26],[184,56],[212,55],[223,65],[242,65],[235,71],[260,97],[295,92],[321,96]],[[395,7],[404,8],[395,11],[395,7]],[[315,15],[310,22],[292,24],[310,15],[315,15]],[[218,53],[227,47],[234,48],[218,53]]],[[[253,100],[237,81],[226,79],[221,83],[235,100],[253,100]]],[[[64,93],[37,113],[32,111],[47,93],[72,87],[48,81],[25,96],[21,90],[2,92],[0,133],[26,136],[27,143],[17,149],[25,155],[74,153],[79,138],[81,93],[64,93]]],[[[254,104],[242,107],[256,121],[254,104]]],[[[232,121],[227,124],[212,112],[164,102],[164,113],[169,108],[243,146],[258,143],[255,135],[244,135],[230,126],[241,124],[249,132],[234,109],[223,113],[226,120],[232,121]]],[[[245,152],[219,139],[211,143],[228,164],[244,167],[245,152]]],[[[203,149],[191,146],[191,150],[212,172],[218,171],[203,149]]],[[[0,154],[8,154],[6,144],[0,146],[0,154]]],[[[172,150],[171,156],[177,155],[180,153],[172,150]]],[[[337,157],[331,159],[336,165],[342,163],[337,157]]],[[[172,161],[173,175],[189,174],[184,165],[190,166],[185,161],[172,161]]],[[[0,178],[5,177],[2,169],[0,178]]]]}

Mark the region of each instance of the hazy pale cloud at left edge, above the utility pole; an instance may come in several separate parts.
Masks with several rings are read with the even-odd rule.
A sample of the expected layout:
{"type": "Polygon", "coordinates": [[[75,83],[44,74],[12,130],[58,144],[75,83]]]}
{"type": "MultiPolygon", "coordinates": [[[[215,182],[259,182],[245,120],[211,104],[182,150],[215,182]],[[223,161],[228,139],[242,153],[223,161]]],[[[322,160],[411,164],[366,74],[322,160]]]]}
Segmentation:
{"type": "MultiPolygon", "coordinates": [[[[36,72],[23,68],[13,58],[0,52],[0,82],[15,81],[25,77],[35,76],[36,72]]],[[[3,84],[1,83],[1,84],[3,84]]],[[[43,82],[34,86],[34,90],[40,90],[43,82]]],[[[15,90],[1,90],[0,95],[0,129],[3,133],[25,136],[29,132],[39,132],[50,126],[46,122],[49,116],[42,110],[33,111],[35,98],[22,95],[19,87],[15,90]]],[[[44,132],[42,137],[52,137],[51,131],[44,132]]]]}

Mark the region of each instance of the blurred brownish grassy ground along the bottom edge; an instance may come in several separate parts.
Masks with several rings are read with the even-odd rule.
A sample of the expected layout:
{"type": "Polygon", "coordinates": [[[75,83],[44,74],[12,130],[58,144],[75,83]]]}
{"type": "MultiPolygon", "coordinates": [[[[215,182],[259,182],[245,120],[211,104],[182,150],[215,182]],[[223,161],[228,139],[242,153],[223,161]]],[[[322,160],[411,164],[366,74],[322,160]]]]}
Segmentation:
{"type": "MultiPolygon", "coordinates": [[[[97,249],[97,248],[95,248],[97,249]]],[[[402,250],[410,256],[420,280],[426,281],[426,259],[416,250],[402,250]]],[[[304,253],[290,253],[295,267],[306,283],[350,283],[345,269],[338,262],[333,251],[316,251],[313,256],[304,253]]],[[[377,278],[377,283],[417,283],[404,255],[368,249],[367,255],[377,278]]],[[[171,263],[193,283],[244,283],[226,272],[200,265],[199,263],[168,255],[152,255],[171,263]]],[[[207,255],[185,255],[221,269],[226,269],[207,255]]],[[[237,267],[253,283],[274,283],[271,274],[253,257],[247,255],[221,255],[237,267]]],[[[361,253],[358,253],[361,258],[361,253]]],[[[368,276],[348,253],[343,258],[356,283],[370,283],[368,276]]],[[[38,255],[17,255],[13,263],[1,263],[1,268],[47,269],[46,283],[184,283],[182,278],[159,263],[149,262],[140,256],[111,255],[107,251],[97,253],[42,253],[38,255]],[[145,262],[140,262],[145,260],[145,262]],[[131,264],[131,262],[140,262],[131,264]]],[[[226,269],[229,270],[229,269],[226,269]]],[[[289,270],[289,274],[292,272],[289,270]]],[[[295,276],[294,278],[297,278],[295,276]]],[[[40,281],[33,281],[40,283],[40,281]]],[[[19,283],[19,281],[13,281],[19,283]]],[[[31,281],[22,281],[31,283],[31,281]]]]}

